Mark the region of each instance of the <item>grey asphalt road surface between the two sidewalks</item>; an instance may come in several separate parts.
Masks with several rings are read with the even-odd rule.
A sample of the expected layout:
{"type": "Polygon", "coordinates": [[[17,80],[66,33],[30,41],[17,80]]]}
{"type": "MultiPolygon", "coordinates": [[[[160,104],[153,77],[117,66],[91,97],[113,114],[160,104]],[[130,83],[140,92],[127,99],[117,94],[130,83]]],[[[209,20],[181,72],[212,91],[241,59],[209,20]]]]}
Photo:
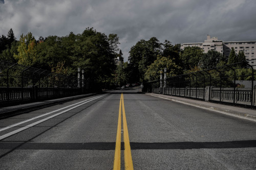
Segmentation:
{"type": "Polygon", "coordinates": [[[256,169],[255,122],[110,92],[0,120],[0,169],[113,169],[121,92],[134,169],[256,169]]]}

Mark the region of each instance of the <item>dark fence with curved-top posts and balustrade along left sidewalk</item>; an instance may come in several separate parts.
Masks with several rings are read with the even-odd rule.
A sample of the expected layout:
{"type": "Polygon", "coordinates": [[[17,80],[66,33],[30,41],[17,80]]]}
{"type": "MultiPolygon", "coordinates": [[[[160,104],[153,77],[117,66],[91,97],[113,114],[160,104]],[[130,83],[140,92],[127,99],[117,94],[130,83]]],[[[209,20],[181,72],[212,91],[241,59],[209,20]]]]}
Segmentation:
{"type": "Polygon", "coordinates": [[[100,83],[80,81],[76,75],[56,74],[0,60],[0,107],[99,90],[100,83]]]}

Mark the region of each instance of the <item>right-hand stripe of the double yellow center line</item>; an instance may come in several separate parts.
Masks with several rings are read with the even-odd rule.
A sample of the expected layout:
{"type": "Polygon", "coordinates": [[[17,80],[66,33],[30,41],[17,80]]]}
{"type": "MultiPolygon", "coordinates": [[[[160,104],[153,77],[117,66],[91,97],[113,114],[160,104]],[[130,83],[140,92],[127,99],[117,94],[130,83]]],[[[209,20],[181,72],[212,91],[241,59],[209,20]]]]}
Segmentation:
{"type": "Polygon", "coordinates": [[[124,167],[126,170],[133,170],[133,159],[129,141],[129,134],[124,110],[123,94],[122,96],[122,112],[123,112],[123,141],[124,141],[124,167]]]}

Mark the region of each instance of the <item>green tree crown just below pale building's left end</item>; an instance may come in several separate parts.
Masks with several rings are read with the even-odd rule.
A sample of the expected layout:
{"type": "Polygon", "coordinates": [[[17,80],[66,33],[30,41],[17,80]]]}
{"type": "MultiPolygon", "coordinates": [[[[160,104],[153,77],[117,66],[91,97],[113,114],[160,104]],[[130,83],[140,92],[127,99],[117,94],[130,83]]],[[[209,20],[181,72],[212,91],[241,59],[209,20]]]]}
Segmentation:
{"type": "Polygon", "coordinates": [[[180,53],[180,58],[183,63],[183,68],[189,70],[195,66],[199,66],[200,60],[203,56],[203,50],[198,46],[187,46],[180,53]]]}

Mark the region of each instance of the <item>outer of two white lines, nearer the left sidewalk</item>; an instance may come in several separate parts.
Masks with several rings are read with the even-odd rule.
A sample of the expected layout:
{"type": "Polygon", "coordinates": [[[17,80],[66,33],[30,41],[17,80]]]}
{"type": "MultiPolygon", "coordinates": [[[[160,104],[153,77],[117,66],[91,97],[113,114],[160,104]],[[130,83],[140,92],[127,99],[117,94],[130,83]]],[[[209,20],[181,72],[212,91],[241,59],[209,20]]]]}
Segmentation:
{"type": "Polygon", "coordinates": [[[24,120],[23,122],[19,122],[19,123],[16,123],[16,124],[13,124],[13,125],[10,125],[10,126],[7,126],[7,127],[5,127],[5,128],[0,129],[0,132],[1,132],[1,131],[4,131],[4,130],[7,130],[7,129],[10,129],[10,128],[13,128],[13,127],[15,127],[15,126],[18,126],[18,125],[21,125],[21,124],[30,122],[31,120],[34,120],[34,119],[36,119],[36,118],[39,118],[39,117],[42,117],[42,116],[46,116],[46,115],[48,115],[48,114],[51,114],[51,113],[54,113],[54,112],[57,112],[57,111],[66,109],[66,108],[68,108],[68,107],[71,107],[71,106],[74,106],[74,105],[77,105],[77,104],[80,104],[80,103],[82,103],[82,102],[86,102],[86,101],[89,101],[89,100],[92,100],[92,99],[101,98],[101,97],[103,97],[103,96],[105,96],[105,95],[108,95],[108,94],[109,94],[109,93],[103,94],[103,95],[100,95],[100,96],[96,96],[96,97],[94,97],[94,98],[87,99],[87,100],[84,100],[84,101],[81,101],[81,102],[78,102],[78,103],[75,103],[75,104],[72,104],[72,105],[69,105],[69,106],[66,106],[66,107],[63,107],[63,108],[60,108],[60,109],[57,109],[57,110],[54,110],[54,111],[45,113],[45,114],[42,114],[42,115],[39,115],[39,116],[36,116],[36,117],[30,118],[30,119],[24,120]]]}

